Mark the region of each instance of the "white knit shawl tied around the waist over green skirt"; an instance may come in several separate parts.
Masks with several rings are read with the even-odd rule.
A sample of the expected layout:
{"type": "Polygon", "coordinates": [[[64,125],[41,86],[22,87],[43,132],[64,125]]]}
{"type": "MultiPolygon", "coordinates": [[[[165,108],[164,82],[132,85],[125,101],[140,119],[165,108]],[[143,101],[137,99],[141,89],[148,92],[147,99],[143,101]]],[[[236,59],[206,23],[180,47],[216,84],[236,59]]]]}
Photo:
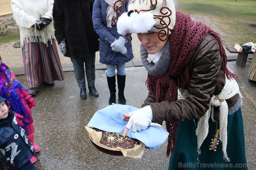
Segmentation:
{"type": "MultiPolygon", "coordinates": [[[[201,154],[200,147],[201,147],[204,139],[208,135],[208,131],[209,131],[209,122],[208,121],[209,121],[210,116],[211,116],[212,121],[215,122],[213,119],[213,107],[214,106],[220,107],[220,109],[219,109],[219,111],[220,111],[219,136],[220,136],[220,141],[222,142],[223,159],[225,161],[229,162],[230,159],[228,158],[227,151],[226,151],[226,148],[227,148],[227,124],[228,124],[228,104],[226,102],[226,99],[229,99],[229,98],[235,96],[235,94],[239,94],[239,98],[240,98],[241,106],[242,106],[243,105],[243,101],[242,101],[243,97],[239,91],[239,87],[238,87],[236,80],[234,80],[234,79],[229,80],[226,75],[225,75],[225,80],[226,80],[226,84],[223,87],[222,91],[219,93],[218,96],[213,96],[211,98],[211,101],[209,103],[209,109],[207,110],[207,112],[204,114],[203,117],[199,118],[195,133],[197,136],[198,154],[201,154]],[[224,101],[221,99],[224,99],[224,101]]],[[[184,90],[184,92],[181,93],[181,89],[178,89],[178,99],[185,99],[187,94],[188,94],[188,90],[184,90]]]]}

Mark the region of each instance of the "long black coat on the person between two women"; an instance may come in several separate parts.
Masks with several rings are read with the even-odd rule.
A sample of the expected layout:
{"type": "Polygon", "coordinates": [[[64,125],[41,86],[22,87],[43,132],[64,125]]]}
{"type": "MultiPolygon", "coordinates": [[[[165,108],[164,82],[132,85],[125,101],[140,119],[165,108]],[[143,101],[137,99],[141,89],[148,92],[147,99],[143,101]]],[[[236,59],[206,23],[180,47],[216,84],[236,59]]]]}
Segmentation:
{"type": "Polygon", "coordinates": [[[54,0],[55,37],[58,44],[65,39],[67,53],[64,56],[82,58],[99,51],[99,37],[92,24],[93,2],[54,0]]]}

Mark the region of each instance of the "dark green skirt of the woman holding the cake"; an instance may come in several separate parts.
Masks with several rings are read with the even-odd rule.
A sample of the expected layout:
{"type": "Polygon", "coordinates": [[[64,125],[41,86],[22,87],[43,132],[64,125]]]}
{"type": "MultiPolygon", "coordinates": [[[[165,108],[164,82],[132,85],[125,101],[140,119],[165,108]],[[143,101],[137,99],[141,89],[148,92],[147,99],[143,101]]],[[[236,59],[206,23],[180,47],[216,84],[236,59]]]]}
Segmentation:
{"type": "MultiPolygon", "coordinates": [[[[217,121],[217,117],[214,117],[217,121]]],[[[245,157],[244,126],[241,108],[228,116],[227,126],[227,154],[230,162],[223,159],[222,143],[217,146],[217,151],[209,150],[211,139],[216,131],[216,122],[209,119],[208,136],[200,147],[201,154],[197,152],[197,137],[195,135],[194,121],[179,122],[176,136],[176,147],[171,154],[169,170],[192,169],[192,170],[247,170],[245,157]],[[199,159],[199,161],[197,160],[199,159]]]]}

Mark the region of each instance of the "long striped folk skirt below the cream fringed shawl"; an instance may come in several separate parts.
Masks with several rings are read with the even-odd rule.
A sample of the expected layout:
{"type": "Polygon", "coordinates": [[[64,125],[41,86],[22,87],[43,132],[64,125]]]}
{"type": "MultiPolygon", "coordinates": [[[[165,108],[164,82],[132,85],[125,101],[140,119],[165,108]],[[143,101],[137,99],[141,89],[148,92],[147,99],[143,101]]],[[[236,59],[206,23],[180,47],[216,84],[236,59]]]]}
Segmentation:
{"type": "Polygon", "coordinates": [[[48,44],[40,42],[25,43],[22,47],[24,73],[29,88],[38,87],[42,82],[53,84],[64,80],[60,57],[54,39],[48,44]]]}

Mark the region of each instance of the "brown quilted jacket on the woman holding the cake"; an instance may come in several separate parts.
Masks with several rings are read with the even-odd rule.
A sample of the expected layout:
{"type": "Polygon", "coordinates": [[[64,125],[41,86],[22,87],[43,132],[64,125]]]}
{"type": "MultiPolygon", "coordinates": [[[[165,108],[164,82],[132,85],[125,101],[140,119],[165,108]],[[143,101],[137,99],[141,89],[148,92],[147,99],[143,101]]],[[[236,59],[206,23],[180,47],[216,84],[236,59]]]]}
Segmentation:
{"type": "MultiPolygon", "coordinates": [[[[190,83],[186,87],[189,92],[188,97],[175,102],[156,103],[156,97],[149,92],[141,107],[150,105],[153,122],[185,121],[202,117],[209,109],[212,96],[218,95],[225,85],[225,72],[221,63],[219,44],[211,34],[207,34],[188,63],[190,75],[190,83]]],[[[236,94],[226,100],[228,106],[234,106],[238,97],[239,95],[236,94]]]]}

